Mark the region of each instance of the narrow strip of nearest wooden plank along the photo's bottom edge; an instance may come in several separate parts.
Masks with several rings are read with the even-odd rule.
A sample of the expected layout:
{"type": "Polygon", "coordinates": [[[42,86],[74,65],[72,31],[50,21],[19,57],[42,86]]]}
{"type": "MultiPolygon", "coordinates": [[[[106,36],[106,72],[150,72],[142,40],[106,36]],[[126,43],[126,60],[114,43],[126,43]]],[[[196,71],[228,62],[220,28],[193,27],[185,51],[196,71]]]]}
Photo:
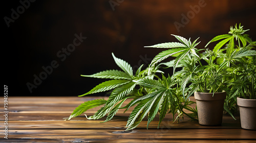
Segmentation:
{"type": "MultiPolygon", "coordinates": [[[[1,142],[1,140],[0,140],[1,142]]],[[[27,142],[54,142],[54,143],[68,143],[68,142],[111,142],[111,143],[255,143],[255,140],[230,140],[230,139],[80,139],[80,138],[72,138],[72,139],[5,139],[3,142],[18,142],[18,143],[27,143],[27,142]]]]}

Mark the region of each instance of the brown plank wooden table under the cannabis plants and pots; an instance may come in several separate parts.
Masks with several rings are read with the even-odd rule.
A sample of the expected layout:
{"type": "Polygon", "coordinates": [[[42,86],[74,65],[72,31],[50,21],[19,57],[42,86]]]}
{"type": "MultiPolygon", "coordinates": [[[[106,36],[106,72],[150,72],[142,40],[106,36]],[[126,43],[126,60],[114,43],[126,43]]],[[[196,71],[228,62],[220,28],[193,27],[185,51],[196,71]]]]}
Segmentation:
{"type": "MultiPolygon", "coordinates": [[[[156,117],[148,130],[145,117],[136,129],[128,132],[124,127],[131,110],[123,113],[120,109],[106,123],[100,123],[105,118],[87,120],[83,114],[70,121],[63,119],[81,103],[98,98],[9,97],[8,139],[1,133],[0,142],[256,142],[256,131],[242,129],[239,116],[235,121],[224,115],[222,126],[201,126],[185,116],[184,121],[173,123],[173,116],[168,114],[159,129],[156,117]]],[[[4,98],[0,102],[4,106],[4,98]]],[[[93,115],[97,109],[90,109],[86,114],[93,115]]],[[[1,107],[2,132],[5,130],[4,111],[1,107]]]]}

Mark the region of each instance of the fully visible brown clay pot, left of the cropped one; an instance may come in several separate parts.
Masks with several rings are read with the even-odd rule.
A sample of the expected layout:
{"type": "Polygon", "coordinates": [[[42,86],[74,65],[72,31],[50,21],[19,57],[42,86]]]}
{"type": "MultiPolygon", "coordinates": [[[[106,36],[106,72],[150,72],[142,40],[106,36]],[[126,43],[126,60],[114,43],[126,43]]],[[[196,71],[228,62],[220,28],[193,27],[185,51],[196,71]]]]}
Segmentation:
{"type": "Polygon", "coordinates": [[[200,125],[218,126],[222,124],[224,100],[226,92],[203,93],[195,92],[197,102],[198,121],[200,125]]]}

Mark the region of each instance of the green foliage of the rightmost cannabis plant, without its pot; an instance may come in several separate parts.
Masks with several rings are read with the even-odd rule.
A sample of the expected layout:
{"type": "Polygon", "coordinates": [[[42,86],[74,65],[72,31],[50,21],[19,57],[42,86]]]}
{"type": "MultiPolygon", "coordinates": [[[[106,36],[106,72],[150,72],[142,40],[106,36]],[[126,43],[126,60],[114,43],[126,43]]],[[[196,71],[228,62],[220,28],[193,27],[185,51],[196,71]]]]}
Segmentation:
{"type": "Polygon", "coordinates": [[[254,83],[256,76],[254,46],[256,44],[249,38],[249,35],[245,34],[246,31],[248,30],[244,30],[241,24],[239,27],[231,26],[228,34],[216,36],[207,43],[208,45],[221,40],[214,47],[214,51],[218,51],[221,47],[225,49],[225,53],[219,52],[216,62],[220,65],[219,71],[223,79],[228,81],[228,88],[225,89],[228,97],[224,107],[232,113],[237,112],[236,97],[256,98],[254,83]]]}

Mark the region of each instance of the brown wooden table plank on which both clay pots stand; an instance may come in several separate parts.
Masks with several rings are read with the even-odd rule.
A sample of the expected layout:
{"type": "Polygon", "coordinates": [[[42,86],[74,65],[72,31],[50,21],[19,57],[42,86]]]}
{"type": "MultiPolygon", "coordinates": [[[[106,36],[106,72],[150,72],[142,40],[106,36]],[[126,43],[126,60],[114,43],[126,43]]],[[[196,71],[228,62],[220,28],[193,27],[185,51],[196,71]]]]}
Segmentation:
{"type": "MultiPolygon", "coordinates": [[[[78,118],[78,117],[77,117],[78,118]]],[[[112,121],[100,123],[104,120],[87,120],[85,117],[81,117],[83,120],[71,120],[71,121],[58,121],[58,120],[38,120],[38,121],[9,121],[9,129],[113,129],[124,128],[127,124],[127,117],[115,116],[112,121]]],[[[155,120],[150,123],[150,129],[157,129],[159,121],[155,120]]],[[[137,129],[146,129],[147,119],[139,124],[137,129]]],[[[0,125],[3,127],[4,125],[0,125]]],[[[201,126],[198,122],[183,121],[180,123],[173,123],[173,120],[164,118],[161,123],[161,128],[167,129],[241,129],[240,122],[224,121],[222,126],[201,126]]]]}

